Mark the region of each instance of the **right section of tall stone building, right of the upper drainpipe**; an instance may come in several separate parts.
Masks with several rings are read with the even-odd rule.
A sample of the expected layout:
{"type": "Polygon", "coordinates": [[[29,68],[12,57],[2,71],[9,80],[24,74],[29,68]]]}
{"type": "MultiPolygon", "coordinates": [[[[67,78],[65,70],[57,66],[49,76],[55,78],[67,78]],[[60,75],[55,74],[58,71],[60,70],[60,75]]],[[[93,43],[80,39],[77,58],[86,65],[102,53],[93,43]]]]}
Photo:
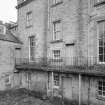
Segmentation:
{"type": "Polygon", "coordinates": [[[49,0],[48,91],[76,105],[105,104],[104,9],[104,0],[49,0]]]}

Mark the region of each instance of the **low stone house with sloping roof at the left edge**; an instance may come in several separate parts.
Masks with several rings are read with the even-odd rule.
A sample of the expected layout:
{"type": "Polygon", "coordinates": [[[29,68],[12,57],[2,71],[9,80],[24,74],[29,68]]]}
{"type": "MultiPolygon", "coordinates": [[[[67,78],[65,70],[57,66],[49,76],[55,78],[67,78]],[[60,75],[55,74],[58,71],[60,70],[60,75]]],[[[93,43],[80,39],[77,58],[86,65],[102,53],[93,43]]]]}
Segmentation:
{"type": "Polygon", "coordinates": [[[15,53],[21,41],[0,23],[0,90],[13,87],[15,53]]]}

